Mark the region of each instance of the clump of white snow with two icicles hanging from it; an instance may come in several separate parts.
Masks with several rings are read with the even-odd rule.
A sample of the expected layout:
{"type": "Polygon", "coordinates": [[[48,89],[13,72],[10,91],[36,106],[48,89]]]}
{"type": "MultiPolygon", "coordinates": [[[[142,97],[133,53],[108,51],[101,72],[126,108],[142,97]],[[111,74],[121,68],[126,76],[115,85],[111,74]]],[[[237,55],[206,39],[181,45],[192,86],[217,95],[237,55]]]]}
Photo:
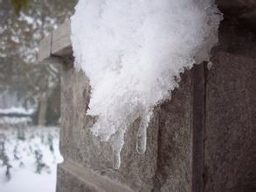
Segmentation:
{"type": "Polygon", "coordinates": [[[184,68],[209,59],[222,18],[213,0],[80,0],[72,21],[75,67],[92,86],[92,132],[109,141],[120,167],[124,134],[140,119],[146,150],[154,106],[170,97],[184,68]]]}

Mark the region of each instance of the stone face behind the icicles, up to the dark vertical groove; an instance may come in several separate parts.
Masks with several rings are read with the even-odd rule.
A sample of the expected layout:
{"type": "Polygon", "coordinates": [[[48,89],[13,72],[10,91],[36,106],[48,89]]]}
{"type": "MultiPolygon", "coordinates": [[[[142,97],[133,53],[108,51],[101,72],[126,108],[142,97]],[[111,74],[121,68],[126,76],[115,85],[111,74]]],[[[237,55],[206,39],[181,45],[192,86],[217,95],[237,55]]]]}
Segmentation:
{"type": "Polygon", "coordinates": [[[192,113],[190,87],[190,72],[187,71],[173,99],[156,108],[148,129],[146,154],[136,153],[135,135],[139,121],[135,121],[126,134],[126,142],[121,151],[121,168],[114,170],[111,147],[107,142],[100,142],[90,131],[95,118],[86,115],[90,98],[88,79],[83,72],[75,72],[73,68],[64,71],[61,154],[65,161],[75,161],[99,175],[124,183],[134,191],[189,190],[192,113]]]}

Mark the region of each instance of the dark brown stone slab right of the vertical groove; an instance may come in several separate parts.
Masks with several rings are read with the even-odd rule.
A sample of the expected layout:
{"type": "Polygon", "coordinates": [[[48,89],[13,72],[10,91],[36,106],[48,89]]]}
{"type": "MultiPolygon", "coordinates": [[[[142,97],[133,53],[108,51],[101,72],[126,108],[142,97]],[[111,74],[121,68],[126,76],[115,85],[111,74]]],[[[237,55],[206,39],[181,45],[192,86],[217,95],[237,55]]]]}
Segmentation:
{"type": "Polygon", "coordinates": [[[206,94],[205,191],[225,191],[256,181],[256,59],[218,52],[212,61],[206,94]]]}

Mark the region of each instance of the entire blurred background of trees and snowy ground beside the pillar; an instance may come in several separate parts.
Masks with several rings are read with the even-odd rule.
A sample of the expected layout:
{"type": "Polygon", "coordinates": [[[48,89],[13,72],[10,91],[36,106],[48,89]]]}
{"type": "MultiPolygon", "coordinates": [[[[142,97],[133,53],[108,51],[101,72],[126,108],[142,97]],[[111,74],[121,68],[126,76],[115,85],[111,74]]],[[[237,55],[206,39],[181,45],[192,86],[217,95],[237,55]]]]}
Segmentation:
{"type": "Polygon", "coordinates": [[[38,65],[38,43],[76,0],[0,0],[0,191],[55,191],[58,65],[38,65]]]}

